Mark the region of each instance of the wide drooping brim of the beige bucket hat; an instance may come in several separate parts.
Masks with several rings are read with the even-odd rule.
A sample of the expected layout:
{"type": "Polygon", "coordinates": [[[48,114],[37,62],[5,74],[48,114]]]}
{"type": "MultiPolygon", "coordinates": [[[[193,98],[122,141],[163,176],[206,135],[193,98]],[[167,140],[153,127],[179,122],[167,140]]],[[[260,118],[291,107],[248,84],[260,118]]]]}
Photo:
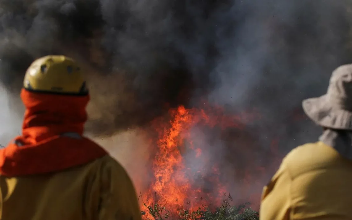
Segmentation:
{"type": "Polygon", "coordinates": [[[352,112],[332,106],[326,95],[305,99],[302,107],[306,115],[321,127],[352,130],[352,112]]]}

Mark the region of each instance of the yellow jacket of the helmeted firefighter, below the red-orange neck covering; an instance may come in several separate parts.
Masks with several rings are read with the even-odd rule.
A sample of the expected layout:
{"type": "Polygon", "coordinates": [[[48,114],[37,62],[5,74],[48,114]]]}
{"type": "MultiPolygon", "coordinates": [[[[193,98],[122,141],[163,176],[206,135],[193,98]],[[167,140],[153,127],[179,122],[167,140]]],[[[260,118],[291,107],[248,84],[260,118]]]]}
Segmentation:
{"type": "Polygon", "coordinates": [[[141,220],[134,186],[106,155],[61,172],[0,176],[1,220],[141,220]]]}

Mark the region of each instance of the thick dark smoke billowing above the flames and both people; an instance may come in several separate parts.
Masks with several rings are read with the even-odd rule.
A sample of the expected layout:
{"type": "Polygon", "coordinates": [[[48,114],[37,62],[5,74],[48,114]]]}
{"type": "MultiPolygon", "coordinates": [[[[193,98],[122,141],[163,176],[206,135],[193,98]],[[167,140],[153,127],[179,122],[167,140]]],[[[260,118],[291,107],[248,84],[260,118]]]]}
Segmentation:
{"type": "Polygon", "coordinates": [[[35,58],[65,54],[87,72],[95,136],[207,100],[257,109],[248,135],[258,155],[273,138],[284,154],[317,139],[295,118],[351,63],[351,9],[347,0],[0,0],[0,80],[15,97],[35,58]]]}

